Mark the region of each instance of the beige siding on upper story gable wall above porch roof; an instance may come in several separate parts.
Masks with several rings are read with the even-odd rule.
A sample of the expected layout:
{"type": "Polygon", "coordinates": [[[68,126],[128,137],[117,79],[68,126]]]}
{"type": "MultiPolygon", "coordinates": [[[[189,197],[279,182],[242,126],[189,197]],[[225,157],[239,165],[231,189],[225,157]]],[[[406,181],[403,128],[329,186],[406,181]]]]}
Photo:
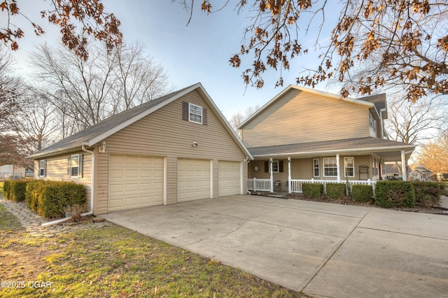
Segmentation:
{"type": "Polygon", "coordinates": [[[290,90],[242,129],[248,148],[370,135],[369,107],[290,90]]]}

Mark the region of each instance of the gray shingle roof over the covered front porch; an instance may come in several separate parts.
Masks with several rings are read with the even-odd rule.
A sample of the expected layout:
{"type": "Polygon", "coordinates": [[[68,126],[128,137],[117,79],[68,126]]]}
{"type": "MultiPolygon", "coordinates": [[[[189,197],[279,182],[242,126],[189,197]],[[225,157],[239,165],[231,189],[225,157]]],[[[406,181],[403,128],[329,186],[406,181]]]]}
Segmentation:
{"type": "MultiPolygon", "coordinates": [[[[306,154],[312,152],[332,152],[341,150],[365,150],[365,149],[381,149],[381,148],[408,148],[413,149],[415,146],[407,143],[390,141],[386,139],[378,139],[372,137],[344,139],[334,141],[318,141],[311,143],[295,143],[279,146],[266,146],[248,148],[253,157],[265,155],[287,155],[287,154],[306,154]]],[[[396,150],[396,149],[395,149],[396,150]]]]}

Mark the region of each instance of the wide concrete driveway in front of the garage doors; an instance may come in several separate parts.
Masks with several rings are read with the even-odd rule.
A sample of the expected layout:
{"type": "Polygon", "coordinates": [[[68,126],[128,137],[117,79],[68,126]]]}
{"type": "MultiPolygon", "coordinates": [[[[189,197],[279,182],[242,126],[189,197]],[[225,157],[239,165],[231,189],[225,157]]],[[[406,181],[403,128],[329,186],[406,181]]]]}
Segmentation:
{"type": "Polygon", "coordinates": [[[106,220],[308,295],[448,297],[448,216],[249,195],[106,220]]]}

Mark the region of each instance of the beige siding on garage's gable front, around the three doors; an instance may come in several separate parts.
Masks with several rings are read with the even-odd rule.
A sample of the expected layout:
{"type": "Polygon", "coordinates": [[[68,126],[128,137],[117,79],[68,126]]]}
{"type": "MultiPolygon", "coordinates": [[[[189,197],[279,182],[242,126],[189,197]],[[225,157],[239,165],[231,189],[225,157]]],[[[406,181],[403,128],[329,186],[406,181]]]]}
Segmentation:
{"type": "MultiPolygon", "coordinates": [[[[104,187],[108,185],[106,173],[109,172],[108,160],[104,155],[117,153],[161,156],[167,158],[167,204],[177,202],[177,158],[214,160],[215,172],[218,171],[218,159],[241,162],[245,157],[244,152],[196,90],[121,129],[105,141],[106,152],[98,153],[98,180],[102,185],[102,192],[107,193],[104,187]],[[207,108],[207,125],[182,120],[182,101],[207,108]],[[193,146],[194,141],[199,146],[193,146]]],[[[213,197],[218,197],[217,175],[213,175],[213,197]]],[[[99,207],[104,205],[107,205],[107,197],[98,194],[97,214],[106,212],[104,208],[99,207]]]]}

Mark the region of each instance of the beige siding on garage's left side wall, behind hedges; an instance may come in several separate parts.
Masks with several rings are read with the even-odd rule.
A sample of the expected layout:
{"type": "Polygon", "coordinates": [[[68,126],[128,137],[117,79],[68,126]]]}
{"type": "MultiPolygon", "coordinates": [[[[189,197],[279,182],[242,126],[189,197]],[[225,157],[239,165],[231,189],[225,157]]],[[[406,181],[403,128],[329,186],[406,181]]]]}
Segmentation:
{"type": "Polygon", "coordinates": [[[42,159],[37,159],[36,162],[34,162],[34,178],[45,180],[71,181],[83,184],[85,186],[85,202],[87,204],[87,210],[90,210],[90,191],[92,189],[92,155],[87,152],[79,151],[66,155],[45,158],[45,160],[47,161],[45,177],[39,177],[38,175],[38,162],[40,160],[42,159]],[[83,155],[82,178],[70,177],[69,173],[67,172],[69,157],[75,154],[83,155]]]}

